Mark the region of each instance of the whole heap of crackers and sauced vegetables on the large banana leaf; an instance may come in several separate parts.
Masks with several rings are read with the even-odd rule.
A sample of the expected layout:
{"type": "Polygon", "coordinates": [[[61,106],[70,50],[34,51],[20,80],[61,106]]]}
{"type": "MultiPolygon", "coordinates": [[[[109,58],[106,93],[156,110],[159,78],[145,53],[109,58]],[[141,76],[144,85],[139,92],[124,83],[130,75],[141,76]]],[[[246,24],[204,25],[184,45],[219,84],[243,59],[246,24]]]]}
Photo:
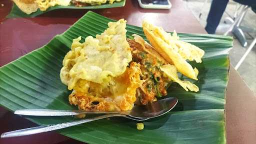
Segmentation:
{"type": "Polygon", "coordinates": [[[166,95],[171,82],[198,91],[195,84],[180,80],[177,71],[197,79],[197,69],[185,60],[201,62],[203,50],[178,40],[176,33],[168,36],[148,25],[144,23],[143,30],[153,46],[137,34],[126,39],[124,19],[109,22],[104,32],[87,36],[83,43],[81,36],[73,39],[60,70],[62,83],[72,90],[69,103],[83,110],[127,111],[134,103],[166,95]]]}

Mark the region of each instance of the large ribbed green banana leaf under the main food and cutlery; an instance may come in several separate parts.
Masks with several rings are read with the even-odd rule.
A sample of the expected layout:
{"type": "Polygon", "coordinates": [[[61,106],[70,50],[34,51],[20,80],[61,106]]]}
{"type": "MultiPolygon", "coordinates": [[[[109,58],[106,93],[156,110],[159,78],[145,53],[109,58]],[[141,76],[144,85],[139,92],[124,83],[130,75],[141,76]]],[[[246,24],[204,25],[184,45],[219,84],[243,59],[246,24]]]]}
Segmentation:
{"type": "MultiPolygon", "coordinates": [[[[114,20],[89,11],[46,45],[0,67],[0,105],[11,111],[24,108],[76,109],[68,103],[70,91],[59,79],[62,59],[73,38],[100,34],[109,21],[114,20]]],[[[127,36],[136,33],[145,38],[141,27],[127,25],[126,29],[127,36]]],[[[114,117],[57,132],[88,143],[226,143],[224,105],[232,38],[178,34],[182,40],[205,50],[202,63],[190,62],[199,70],[198,81],[191,80],[199,86],[199,92],[187,92],[178,84],[171,84],[167,96],[177,97],[177,106],[165,115],[144,121],[143,130],[136,129],[136,121],[114,117]]],[[[39,125],[76,119],[71,116],[25,118],[39,125]]]]}

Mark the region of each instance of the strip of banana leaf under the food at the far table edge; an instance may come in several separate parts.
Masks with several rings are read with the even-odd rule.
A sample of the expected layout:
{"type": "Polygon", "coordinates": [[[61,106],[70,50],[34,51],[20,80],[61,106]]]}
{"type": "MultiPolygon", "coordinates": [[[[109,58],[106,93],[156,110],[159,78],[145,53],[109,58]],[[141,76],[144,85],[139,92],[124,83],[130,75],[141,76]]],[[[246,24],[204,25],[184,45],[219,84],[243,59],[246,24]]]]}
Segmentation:
{"type": "Polygon", "coordinates": [[[26,14],[23,11],[21,11],[18,6],[13,3],[10,13],[6,16],[7,18],[14,18],[14,17],[35,17],[37,15],[43,14],[45,12],[54,10],[54,9],[98,9],[98,8],[112,8],[112,7],[121,7],[125,5],[125,0],[121,0],[120,2],[114,2],[112,4],[101,4],[101,5],[92,5],[92,6],[81,6],[77,7],[74,5],[68,5],[68,6],[62,6],[62,5],[55,5],[52,7],[49,7],[45,11],[41,11],[39,8],[37,11],[32,12],[31,14],[26,14]]]}

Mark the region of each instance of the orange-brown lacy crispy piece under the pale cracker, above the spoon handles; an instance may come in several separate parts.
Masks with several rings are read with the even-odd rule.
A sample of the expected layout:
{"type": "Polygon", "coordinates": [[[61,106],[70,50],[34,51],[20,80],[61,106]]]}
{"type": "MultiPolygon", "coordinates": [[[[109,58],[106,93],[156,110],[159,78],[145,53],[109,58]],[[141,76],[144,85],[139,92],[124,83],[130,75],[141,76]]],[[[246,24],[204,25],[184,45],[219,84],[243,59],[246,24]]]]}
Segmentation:
{"type": "Polygon", "coordinates": [[[69,95],[70,104],[84,110],[130,110],[136,100],[136,89],[141,84],[139,66],[131,62],[123,74],[104,85],[80,79],[69,95]]]}

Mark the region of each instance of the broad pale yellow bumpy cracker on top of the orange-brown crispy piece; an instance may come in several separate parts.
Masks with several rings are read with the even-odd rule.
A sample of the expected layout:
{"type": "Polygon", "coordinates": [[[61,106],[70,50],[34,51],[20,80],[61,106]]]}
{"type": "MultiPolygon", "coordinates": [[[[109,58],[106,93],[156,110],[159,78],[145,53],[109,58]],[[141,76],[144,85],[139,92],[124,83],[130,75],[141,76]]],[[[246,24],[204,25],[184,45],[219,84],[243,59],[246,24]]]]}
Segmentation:
{"type": "Polygon", "coordinates": [[[73,39],[71,50],[63,59],[61,81],[71,90],[79,79],[96,83],[108,82],[111,77],[122,74],[131,61],[131,52],[126,41],[126,21],[109,22],[108,28],[96,35],[73,39]]]}

